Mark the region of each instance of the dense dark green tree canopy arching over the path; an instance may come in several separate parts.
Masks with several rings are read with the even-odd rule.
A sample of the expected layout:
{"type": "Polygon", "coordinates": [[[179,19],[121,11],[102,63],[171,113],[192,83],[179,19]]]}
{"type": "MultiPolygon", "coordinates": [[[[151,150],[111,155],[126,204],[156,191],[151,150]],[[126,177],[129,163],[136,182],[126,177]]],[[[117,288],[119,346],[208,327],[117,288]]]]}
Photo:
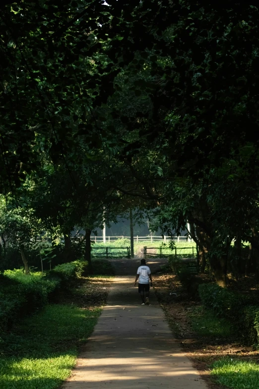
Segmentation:
{"type": "Polygon", "coordinates": [[[258,26],[255,1],[3,3],[1,260],[70,261],[76,226],[91,268],[91,232],[133,209],[188,221],[218,284],[259,279],[258,26]]]}

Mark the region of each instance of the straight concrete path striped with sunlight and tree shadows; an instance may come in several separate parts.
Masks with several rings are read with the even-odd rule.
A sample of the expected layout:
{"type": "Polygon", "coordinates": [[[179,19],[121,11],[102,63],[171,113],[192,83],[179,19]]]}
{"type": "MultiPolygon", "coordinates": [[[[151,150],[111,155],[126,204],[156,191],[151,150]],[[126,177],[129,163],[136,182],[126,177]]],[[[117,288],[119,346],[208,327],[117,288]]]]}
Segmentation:
{"type": "MultiPolygon", "coordinates": [[[[128,260],[128,271],[136,271],[138,262],[128,260]]],[[[152,271],[156,261],[151,265],[152,271]]],[[[134,275],[115,277],[95,330],[63,388],[207,388],[173,338],[154,292],[151,305],[141,306],[133,284],[134,275]]]]}

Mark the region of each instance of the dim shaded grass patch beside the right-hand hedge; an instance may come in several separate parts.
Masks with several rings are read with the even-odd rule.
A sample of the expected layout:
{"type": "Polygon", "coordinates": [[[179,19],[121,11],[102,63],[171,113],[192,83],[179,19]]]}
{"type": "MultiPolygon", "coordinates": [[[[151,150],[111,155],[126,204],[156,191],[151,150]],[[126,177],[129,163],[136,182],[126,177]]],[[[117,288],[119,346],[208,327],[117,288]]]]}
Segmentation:
{"type": "Polygon", "coordinates": [[[235,334],[235,330],[228,320],[216,316],[209,309],[201,307],[194,309],[190,313],[190,319],[194,331],[200,336],[226,338],[235,334]]]}

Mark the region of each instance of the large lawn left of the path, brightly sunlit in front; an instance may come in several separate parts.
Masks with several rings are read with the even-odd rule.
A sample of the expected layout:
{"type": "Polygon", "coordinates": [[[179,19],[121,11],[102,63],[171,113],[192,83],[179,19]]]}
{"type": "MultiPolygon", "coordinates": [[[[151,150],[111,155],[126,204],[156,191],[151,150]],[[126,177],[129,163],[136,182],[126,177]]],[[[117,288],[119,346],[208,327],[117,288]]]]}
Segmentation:
{"type": "Polygon", "coordinates": [[[49,305],[1,335],[0,388],[54,389],[69,376],[77,348],[91,334],[100,309],[49,305]]]}

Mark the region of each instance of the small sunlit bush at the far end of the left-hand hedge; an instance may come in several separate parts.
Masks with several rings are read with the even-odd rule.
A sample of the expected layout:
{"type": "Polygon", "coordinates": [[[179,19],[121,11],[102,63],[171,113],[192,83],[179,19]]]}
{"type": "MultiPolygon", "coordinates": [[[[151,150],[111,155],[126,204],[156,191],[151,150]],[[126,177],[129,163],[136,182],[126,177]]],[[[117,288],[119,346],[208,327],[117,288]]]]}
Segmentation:
{"type": "Polygon", "coordinates": [[[70,286],[76,278],[80,277],[86,271],[88,262],[73,261],[56,266],[48,272],[48,278],[58,277],[61,280],[61,287],[70,286]]]}

